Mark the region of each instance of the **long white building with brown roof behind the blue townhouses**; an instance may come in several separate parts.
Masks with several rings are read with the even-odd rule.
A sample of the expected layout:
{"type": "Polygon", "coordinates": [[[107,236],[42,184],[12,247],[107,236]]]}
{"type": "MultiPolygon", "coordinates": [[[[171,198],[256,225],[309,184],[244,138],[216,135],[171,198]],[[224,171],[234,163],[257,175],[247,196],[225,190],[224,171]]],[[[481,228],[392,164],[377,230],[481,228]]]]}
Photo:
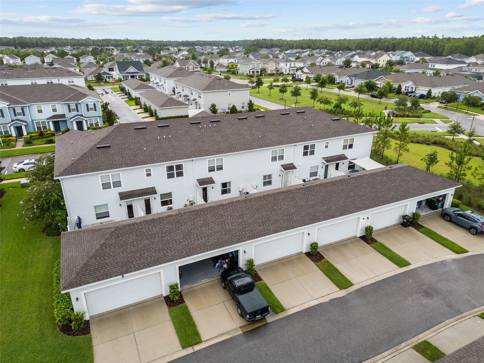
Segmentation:
{"type": "Polygon", "coordinates": [[[24,68],[0,68],[0,85],[55,84],[85,87],[84,75],[65,68],[45,68],[43,64],[33,64],[24,68]]]}

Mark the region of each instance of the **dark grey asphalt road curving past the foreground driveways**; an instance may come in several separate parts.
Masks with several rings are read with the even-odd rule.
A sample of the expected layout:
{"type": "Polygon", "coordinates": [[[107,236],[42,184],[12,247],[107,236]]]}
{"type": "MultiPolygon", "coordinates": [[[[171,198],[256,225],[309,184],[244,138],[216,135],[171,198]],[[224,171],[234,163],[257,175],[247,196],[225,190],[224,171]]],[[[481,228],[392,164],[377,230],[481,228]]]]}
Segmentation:
{"type": "Polygon", "coordinates": [[[483,305],[484,255],[454,258],[396,274],[174,362],[363,362],[483,305]]]}

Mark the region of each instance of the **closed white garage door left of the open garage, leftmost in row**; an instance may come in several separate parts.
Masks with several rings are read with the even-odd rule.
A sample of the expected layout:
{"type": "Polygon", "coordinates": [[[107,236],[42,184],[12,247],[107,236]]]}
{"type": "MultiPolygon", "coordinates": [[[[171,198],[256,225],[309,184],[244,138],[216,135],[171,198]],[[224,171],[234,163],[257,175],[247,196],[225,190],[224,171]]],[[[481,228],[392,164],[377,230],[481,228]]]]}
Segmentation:
{"type": "Polygon", "coordinates": [[[84,297],[89,316],[161,295],[160,272],[127,280],[119,284],[86,292],[84,297]]]}

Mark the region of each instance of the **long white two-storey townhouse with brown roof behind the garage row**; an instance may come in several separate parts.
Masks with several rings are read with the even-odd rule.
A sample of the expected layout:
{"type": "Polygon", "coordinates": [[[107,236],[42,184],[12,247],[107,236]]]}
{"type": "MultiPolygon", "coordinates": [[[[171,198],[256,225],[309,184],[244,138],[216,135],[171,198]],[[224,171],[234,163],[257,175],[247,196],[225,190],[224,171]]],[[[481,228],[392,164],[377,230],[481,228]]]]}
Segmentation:
{"type": "Polygon", "coordinates": [[[54,174],[91,226],[371,169],[374,132],[311,107],[119,124],[59,136],[54,174]]]}

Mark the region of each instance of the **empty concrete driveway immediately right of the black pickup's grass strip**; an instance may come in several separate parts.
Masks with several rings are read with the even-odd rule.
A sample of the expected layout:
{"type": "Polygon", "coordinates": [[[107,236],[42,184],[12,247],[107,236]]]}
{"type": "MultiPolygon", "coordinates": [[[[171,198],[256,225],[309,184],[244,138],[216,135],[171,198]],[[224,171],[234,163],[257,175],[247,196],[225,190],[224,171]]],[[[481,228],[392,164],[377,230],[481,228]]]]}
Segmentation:
{"type": "Polygon", "coordinates": [[[262,265],[257,272],[286,309],[339,290],[303,254],[262,265]]]}

